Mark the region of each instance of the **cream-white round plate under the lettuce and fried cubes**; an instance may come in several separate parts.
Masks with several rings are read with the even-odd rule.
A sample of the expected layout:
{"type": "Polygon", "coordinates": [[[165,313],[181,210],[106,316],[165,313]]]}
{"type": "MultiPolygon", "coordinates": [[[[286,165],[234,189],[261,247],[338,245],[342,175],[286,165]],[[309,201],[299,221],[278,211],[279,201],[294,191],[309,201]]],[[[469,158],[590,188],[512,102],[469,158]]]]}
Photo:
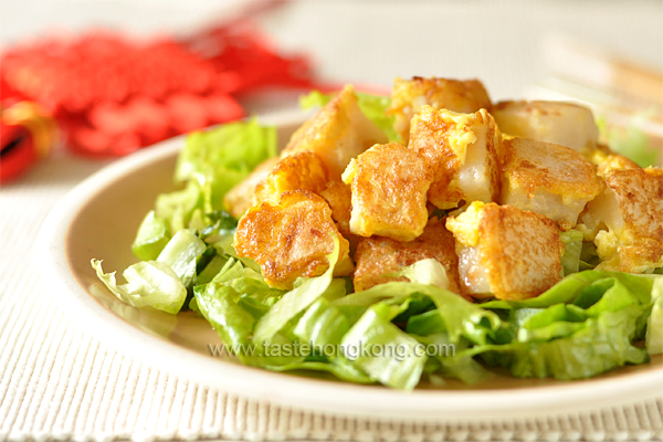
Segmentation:
{"type": "MultiPolygon", "coordinates": [[[[263,119],[286,140],[302,122],[291,114],[263,119]]],[[[49,215],[38,244],[45,281],[87,332],[136,359],[209,387],[305,410],[407,421],[487,421],[568,414],[660,398],[663,364],[624,367],[580,381],[516,379],[498,375],[467,387],[423,385],[403,392],[357,386],[324,376],[277,373],[211,357],[220,344],[207,322],[139,311],[116,299],[90,265],[122,271],[136,261],[130,244],[158,193],[172,190],[172,171],[182,138],[175,138],[118,160],[81,182],[49,215]]]]}

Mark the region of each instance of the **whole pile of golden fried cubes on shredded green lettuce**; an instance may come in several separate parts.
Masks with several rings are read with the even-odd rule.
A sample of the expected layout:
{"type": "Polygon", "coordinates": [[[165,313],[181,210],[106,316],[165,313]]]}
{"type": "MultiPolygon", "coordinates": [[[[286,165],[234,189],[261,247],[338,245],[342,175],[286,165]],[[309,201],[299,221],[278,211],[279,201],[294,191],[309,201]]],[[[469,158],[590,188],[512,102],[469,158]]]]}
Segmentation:
{"type": "Polygon", "coordinates": [[[302,104],[281,152],[257,119],[189,135],[126,283],[92,260],[108,290],[192,311],[245,365],[404,390],[663,352],[663,170],[589,109],[420,77],[302,104]]]}

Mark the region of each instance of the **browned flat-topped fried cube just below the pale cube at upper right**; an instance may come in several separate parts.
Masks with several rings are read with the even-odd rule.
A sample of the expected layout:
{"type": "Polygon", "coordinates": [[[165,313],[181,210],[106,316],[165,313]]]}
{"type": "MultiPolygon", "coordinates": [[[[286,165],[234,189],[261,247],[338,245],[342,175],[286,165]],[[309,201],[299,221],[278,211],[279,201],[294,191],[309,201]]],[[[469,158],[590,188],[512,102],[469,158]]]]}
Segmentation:
{"type": "Polygon", "coordinates": [[[566,231],[603,190],[596,166],[571,148],[525,138],[503,147],[502,204],[546,215],[566,231]]]}

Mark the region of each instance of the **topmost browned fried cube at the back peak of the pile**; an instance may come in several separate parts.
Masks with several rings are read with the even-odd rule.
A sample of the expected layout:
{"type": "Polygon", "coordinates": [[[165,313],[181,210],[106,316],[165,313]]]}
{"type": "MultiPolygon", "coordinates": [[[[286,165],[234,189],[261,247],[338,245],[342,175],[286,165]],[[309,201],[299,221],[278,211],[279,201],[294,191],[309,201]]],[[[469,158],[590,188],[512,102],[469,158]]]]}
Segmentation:
{"type": "Polygon", "coordinates": [[[408,143],[410,136],[410,120],[424,105],[470,114],[490,109],[491,98],[478,80],[396,78],[389,113],[396,116],[394,128],[403,143],[408,143]]]}

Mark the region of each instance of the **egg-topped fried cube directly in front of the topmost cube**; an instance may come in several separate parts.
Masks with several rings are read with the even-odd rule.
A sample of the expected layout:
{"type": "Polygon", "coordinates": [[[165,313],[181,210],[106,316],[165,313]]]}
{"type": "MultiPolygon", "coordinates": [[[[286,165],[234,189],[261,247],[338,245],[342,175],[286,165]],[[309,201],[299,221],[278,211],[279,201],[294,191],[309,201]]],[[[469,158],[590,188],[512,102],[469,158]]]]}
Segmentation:
{"type": "Polygon", "coordinates": [[[409,147],[433,171],[431,203],[453,209],[461,201],[496,201],[502,136],[486,109],[456,114],[423,106],[412,118],[409,147]]]}

